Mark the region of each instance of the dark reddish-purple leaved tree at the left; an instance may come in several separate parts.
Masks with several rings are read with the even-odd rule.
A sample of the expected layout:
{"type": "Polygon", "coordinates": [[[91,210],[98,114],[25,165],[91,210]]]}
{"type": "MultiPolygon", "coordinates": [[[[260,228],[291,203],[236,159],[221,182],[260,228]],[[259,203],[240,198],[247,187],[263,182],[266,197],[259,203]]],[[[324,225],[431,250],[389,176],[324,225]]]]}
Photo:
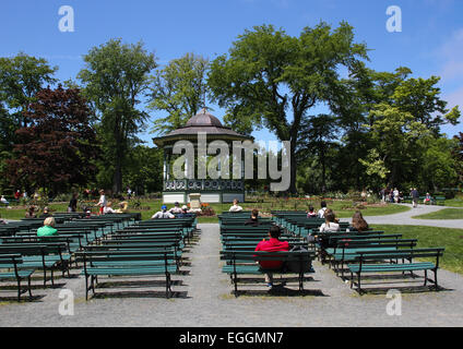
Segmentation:
{"type": "Polygon", "coordinates": [[[44,188],[55,194],[95,176],[98,154],[91,110],[79,89],[41,89],[28,106],[29,125],[16,130],[8,177],[16,188],[44,188]]]}

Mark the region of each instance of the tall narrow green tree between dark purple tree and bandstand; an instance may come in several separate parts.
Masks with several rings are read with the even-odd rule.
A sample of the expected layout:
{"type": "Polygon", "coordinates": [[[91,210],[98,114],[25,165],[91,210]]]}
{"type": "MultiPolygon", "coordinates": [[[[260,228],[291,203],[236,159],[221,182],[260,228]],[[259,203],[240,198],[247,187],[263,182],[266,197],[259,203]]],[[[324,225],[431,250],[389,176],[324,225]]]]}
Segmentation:
{"type": "Polygon", "coordinates": [[[114,192],[120,193],[127,154],[139,143],[136,133],[147,119],[139,105],[149,87],[150,72],[156,68],[155,56],[142,43],[111,39],[92,48],[84,61],[78,77],[99,117],[105,167],[112,172],[114,192]]]}

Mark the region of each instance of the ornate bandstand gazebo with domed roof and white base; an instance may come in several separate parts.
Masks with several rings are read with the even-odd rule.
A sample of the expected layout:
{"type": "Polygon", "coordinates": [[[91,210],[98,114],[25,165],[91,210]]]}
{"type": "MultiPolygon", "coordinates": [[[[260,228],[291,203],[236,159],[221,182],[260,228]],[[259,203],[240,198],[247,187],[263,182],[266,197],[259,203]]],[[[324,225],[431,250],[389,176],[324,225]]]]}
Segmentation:
{"type": "MultiPolygon", "coordinates": [[[[240,176],[239,179],[174,178],[171,165],[175,156],[173,154],[175,144],[179,141],[188,141],[194,145],[197,151],[199,135],[205,135],[207,147],[214,141],[226,142],[230,147],[234,141],[253,141],[251,136],[239,134],[230,128],[224,127],[205,108],[188,120],[185,127],[178,128],[164,136],[153,139],[153,143],[164,149],[163,202],[166,204],[175,202],[186,204],[190,202],[190,194],[201,194],[201,202],[203,203],[230,203],[234,198],[238,198],[240,202],[245,201],[244,176],[240,176]]],[[[242,158],[241,156],[241,169],[244,169],[242,158]]],[[[198,161],[195,161],[193,173],[198,173],[198,161]]]]}

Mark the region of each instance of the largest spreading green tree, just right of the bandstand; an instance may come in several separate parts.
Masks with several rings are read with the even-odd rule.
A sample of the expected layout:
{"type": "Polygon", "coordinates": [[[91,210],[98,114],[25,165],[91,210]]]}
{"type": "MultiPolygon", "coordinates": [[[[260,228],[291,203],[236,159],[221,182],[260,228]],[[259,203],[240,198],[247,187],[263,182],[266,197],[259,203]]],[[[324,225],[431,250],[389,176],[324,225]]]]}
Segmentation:
{"type": "Polygon", "coordinates": [[[353,28],[342,22],[332,31],[320,23],[299,37],[271,25],[246,31],[228,57],[211,64],[209,85],[214,100],[227,109],[225,120],[241,131],[266,127],[290,143],[290,185],[296,192],[296,146],[308,111],[325,101],[339,69],[367,59],[364,44],[354,43],[353,28]]]}

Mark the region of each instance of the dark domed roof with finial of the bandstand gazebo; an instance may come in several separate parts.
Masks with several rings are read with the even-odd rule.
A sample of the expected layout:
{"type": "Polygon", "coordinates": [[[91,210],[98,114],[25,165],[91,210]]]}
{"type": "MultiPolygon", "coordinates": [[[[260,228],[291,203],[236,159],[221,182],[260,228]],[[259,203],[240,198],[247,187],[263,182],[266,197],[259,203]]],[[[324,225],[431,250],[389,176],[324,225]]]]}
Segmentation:
{"type": "Polygon", "coordinates": [[[153,139],[154,144],[163,147],[167,143],[179,140],[198,140],[198,133],[205,133],[209,140],[224,141],[252,141],[253,137],[239,134],[230,128],[224,127],[216,117],[203,108],[199,113],[191,117],[185,127],[178,128],[164,136],[153,139]]]}

